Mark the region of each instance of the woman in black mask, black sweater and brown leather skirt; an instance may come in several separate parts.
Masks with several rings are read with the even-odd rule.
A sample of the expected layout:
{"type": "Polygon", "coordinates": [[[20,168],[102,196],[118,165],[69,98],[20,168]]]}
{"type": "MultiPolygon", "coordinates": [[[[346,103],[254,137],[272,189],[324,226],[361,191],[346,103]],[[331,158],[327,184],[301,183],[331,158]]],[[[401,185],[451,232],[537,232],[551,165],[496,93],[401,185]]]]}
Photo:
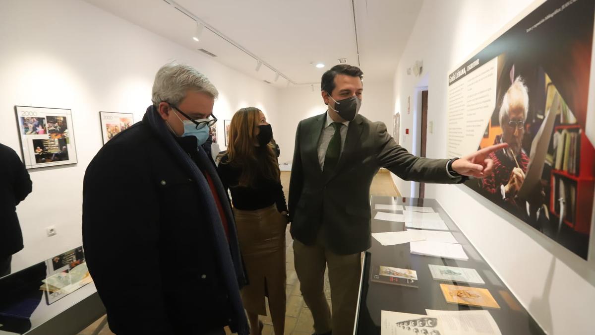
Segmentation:
{"type": "Polygon", "coordinates": [[[240,250],[248,274],[242,300],[250,333],[260,334],[258,315],[267,315],[275,334],[285,324],[285,229],[288,216],[277,156],[270,144],[271,125],[258,108],[242,108],[231,119],[227,151],[218,166],[223,186],[231,191],[240,250]]]}

